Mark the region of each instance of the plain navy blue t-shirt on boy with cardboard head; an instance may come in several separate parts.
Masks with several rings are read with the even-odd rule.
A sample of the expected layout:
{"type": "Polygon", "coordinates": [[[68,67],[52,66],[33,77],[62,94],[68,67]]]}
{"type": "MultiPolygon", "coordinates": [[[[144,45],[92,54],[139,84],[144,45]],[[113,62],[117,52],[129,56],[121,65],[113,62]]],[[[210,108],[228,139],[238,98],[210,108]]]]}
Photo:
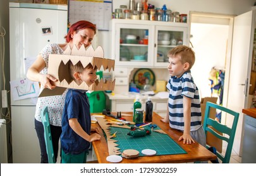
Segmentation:
{"type": "Polygon", "coordinates": [[[73,131],[68,123],[71,118],[78,119],[78,123],[80,123],[83,130],[90,135],[90,104],[86,91],[68,90],[61,121],[61,148],[65,153],[76,155],[88,150],[90,143],[73,131]]]}

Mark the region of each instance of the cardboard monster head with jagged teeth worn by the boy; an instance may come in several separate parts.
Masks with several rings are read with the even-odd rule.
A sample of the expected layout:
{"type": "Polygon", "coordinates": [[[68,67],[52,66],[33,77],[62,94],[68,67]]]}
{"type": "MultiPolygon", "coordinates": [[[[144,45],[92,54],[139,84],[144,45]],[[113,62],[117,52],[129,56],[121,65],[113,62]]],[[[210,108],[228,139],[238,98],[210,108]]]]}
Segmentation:
{"type": "Polygon", "coordinates": [[[114,70],[114,60],[104,58],[102,47],[97,47],[97,49],[94,50],[94,48],[90,46],[85,50],[85,47],[82,46],[79,50],[76,47],[73,47],[71,50],[70,46],[68,46],[63,55],[49,55],[48,74],[58,79],[58,81],[52,82],[53,85],[56,85],[55,89],[44,89],[39,97],[61,95],[66,88],[88,91],[114,91],[115,80],[96,80],[90,87],[85,82],[80,85],[76,84],[68,72],[68,62],[72,62],[73,65],[81,62],[83,67],[91,63],[94,68],[97,67],[97,70],[100,70],[101,67],[103,67],[104,70],[109,70],[109,72],[111,69],[114,70]]]}

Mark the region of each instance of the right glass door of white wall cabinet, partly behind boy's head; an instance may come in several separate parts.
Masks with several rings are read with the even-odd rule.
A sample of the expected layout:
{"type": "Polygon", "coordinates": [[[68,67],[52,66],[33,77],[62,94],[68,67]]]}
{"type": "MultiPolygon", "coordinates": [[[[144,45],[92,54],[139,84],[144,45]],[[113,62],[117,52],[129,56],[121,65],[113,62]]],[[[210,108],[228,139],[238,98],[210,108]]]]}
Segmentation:
{"type": "Polygon", "coordinates": [[[168,52],[178,45],[188,45],[187,28],[156,26],[154,65],[168,67],[168,52]]]}

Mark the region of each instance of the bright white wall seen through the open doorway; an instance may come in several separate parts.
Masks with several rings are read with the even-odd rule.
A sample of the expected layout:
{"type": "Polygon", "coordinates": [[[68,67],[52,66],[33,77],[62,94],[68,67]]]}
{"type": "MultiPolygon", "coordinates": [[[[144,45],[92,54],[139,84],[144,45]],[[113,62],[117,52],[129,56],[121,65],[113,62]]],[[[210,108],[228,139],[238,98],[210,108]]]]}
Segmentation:
{"type": "Polygon", "coordinates": [[[226,45],[228,40],[228,25],[209,25],[192,23],[190,39],[195,51],[195,64],[192,75],[200,97],[210,97],[209,73],[212,67],[225,68],[226,45]]]}

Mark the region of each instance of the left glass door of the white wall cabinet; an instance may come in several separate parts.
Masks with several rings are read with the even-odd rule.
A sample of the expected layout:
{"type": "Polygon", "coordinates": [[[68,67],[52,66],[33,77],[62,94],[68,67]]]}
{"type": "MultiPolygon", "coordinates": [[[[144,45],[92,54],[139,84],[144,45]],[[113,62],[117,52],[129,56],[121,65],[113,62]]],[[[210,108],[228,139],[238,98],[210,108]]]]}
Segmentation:
{"type": "Polygon", "coordinates": [[[136,65],[149,67],[153,65],[152,57],[153,34],[152,26],[149,25],[116,25],[116,65],[136,65]]]}

